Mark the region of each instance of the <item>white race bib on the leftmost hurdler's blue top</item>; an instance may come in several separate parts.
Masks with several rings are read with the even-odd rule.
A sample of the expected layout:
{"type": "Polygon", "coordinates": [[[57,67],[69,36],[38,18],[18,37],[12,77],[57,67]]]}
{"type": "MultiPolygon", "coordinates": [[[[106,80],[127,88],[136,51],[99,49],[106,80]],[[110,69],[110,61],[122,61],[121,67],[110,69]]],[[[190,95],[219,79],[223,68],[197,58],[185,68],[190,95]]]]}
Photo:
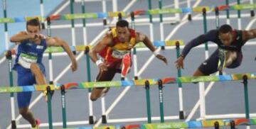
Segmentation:
{"type": "Polygon", "coordinates": [[[31,64],[36,62],[37,57],[34,55],[21,53],[21,55],[18,57],[18,64],[20,64],[22,67],[25,67],[26,69],[30,69],[31,64]]]}

